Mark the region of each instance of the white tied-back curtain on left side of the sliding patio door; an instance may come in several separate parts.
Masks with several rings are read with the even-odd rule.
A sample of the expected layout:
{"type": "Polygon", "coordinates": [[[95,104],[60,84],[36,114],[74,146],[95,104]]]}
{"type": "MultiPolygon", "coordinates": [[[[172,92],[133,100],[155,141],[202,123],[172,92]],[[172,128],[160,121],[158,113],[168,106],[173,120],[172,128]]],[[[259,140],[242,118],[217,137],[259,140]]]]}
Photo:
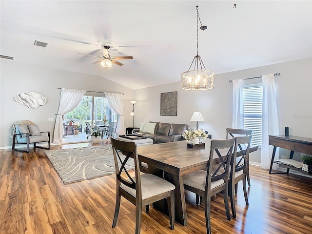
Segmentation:
{"type": "Polygon", "coordinates": [[[85,92],[85,90],[61,88],[59,111],[55,121],[53,143],[62,143],[62,137],[64,135],[63,115],[76,108],[85,92]]]}

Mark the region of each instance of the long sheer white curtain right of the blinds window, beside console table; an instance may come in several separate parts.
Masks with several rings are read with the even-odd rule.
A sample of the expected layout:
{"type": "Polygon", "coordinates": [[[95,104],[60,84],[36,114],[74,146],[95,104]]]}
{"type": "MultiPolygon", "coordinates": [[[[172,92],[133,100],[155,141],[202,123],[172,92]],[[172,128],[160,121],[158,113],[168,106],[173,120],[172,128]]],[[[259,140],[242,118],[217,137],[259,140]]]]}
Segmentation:
{"type": "MultiPolygon", "coordinates": [[[[278,135],[278,117],[275,99],[274,75],[262,76],[263,100],[262,100],[262,147],[261,167],[269,169],[271,164],[273,146],[269,146],[269,135],[278,135]]],[[[275,158],[278,159],[279,151],[276,150],[275,158]]],[[[274,165],[275,166],[275,165],[274,165]]],[[[275,168],[276,169],[276,166],[275,168]]]]}

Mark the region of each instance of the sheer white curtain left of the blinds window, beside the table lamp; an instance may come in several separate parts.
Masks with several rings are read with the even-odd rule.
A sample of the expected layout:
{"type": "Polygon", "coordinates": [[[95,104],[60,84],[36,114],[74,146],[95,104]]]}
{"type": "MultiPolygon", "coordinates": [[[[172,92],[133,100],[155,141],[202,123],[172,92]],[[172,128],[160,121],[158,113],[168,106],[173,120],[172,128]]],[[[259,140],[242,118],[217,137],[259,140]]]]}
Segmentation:
{"type": "Polygon", "coordinates": [[[244,129],[244,79],[233,80],[233,117],[232,128],[244,129]]]}

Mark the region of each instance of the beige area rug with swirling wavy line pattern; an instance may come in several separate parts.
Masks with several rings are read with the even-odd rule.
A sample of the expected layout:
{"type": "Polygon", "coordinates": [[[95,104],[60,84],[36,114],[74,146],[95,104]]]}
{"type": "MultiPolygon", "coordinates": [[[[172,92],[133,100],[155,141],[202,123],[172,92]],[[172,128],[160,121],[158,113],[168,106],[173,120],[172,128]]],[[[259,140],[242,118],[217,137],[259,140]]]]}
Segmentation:
{"type": "MultiPolygon", "coordinates": [[[[110,144],[49,150],[44,151],[44,153],[64,184],[115,173],[114,156],[110,144]]],[[[132,170],[134,168],[133,159],[128,160],[126,169],[132,170]]]]}

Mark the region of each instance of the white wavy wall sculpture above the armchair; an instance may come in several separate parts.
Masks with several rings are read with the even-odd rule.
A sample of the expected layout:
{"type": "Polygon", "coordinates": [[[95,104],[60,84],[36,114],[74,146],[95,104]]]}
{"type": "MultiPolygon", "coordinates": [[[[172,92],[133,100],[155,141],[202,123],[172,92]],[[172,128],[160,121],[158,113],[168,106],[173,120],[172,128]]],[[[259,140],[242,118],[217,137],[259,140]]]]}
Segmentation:
{"type": "Polygon", "coordinates": [[[48,99],[36,92],[28,92],[13,97],[13,100],[28,108],[37,108],[47,103],[48,99]]]}

